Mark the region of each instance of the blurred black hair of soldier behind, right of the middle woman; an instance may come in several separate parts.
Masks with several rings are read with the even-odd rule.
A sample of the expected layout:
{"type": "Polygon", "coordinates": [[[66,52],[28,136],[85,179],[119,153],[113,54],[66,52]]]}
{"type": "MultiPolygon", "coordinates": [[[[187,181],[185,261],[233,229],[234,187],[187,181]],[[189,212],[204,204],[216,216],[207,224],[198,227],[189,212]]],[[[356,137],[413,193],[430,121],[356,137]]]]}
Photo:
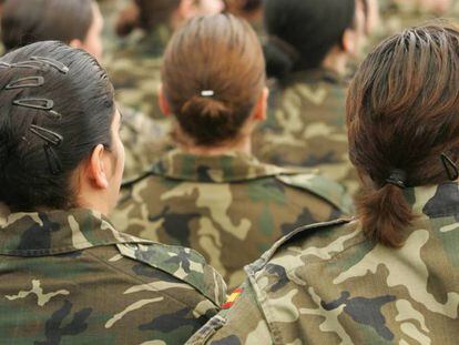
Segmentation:
{"type": "Polygon", "coordinates": [[[279,79],[319,67],[356,11],[355,0],[265,0],[264,7],[267,73],[279,79]]]}

